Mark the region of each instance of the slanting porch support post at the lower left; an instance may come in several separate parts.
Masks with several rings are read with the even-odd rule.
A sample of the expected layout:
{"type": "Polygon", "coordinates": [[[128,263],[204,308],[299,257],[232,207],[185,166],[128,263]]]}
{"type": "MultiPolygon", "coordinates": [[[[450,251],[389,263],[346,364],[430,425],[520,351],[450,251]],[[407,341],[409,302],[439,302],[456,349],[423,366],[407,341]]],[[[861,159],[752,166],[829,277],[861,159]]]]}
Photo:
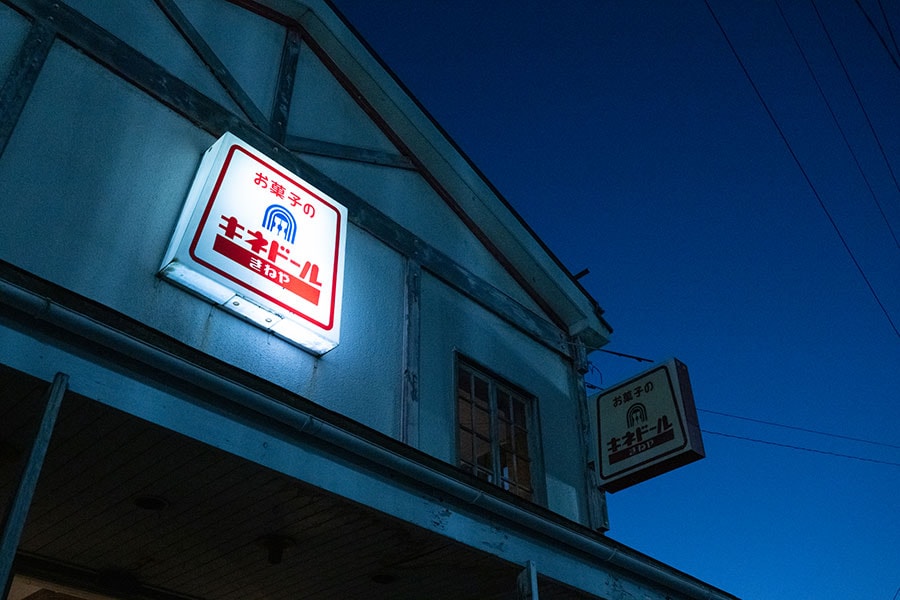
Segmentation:
{"type": "Polygon", "coordinates": [[[2,586],[0,587],[0,592],[2,592],[0,600],[9,595],[16,548],[19,547],[22,530],[25,528],[25,519],[28,516],[28,509],[31,507],[31,499],[34,497],[34,491],[37,488],[38,477],[41,474],[44,457],[47,455],[47,448],[50,446],[50,437],[53,435],[56,416],[59,414],[59,407],[62,404],[68,385],[69,376],[65,373],[57,373],[53,378],[53,383],[47,390],[44,415],[41,418],[37,435],[35,435],[34,442],[31,445],[28,463],[25,465],[24,472],[19,480],[19,487],[16,489],[9,508],[3,516],[3,529],[0,532],[0,535],[2,535],[0,537],[0,586],[2,586]]]}

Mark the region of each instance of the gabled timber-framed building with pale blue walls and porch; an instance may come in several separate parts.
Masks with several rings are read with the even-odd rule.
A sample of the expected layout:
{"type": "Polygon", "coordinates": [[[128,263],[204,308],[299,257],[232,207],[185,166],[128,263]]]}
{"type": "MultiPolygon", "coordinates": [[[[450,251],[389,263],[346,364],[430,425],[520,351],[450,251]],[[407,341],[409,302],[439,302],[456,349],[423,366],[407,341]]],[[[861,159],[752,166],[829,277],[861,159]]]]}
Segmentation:
{"type": "Polygon", "coordinates": [[[731,598],[605,536],[602,311],[327,2],[0,0],[0,81],[10,598],[731,598]],[[210,235],[333,348],[167,276],[226,135],[286,208],[210,235]]]}

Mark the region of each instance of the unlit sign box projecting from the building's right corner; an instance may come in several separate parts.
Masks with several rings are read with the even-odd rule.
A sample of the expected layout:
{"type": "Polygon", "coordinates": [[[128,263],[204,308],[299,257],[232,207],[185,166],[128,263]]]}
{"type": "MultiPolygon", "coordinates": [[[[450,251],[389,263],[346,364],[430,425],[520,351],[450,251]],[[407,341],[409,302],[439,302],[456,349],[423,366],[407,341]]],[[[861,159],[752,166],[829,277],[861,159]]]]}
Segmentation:
{"type": "Polygon", "coordinates": [[[671,359],[597,396],[600,487],[646,481],[705,456],[687,366],[671,359]]]}

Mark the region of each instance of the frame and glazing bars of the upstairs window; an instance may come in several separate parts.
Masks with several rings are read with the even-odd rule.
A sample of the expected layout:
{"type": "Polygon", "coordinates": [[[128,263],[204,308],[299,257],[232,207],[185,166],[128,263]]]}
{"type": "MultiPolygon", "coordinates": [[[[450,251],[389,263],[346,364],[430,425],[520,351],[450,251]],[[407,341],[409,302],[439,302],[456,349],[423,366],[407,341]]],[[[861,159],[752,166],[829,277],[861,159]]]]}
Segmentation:
{"type": "MultiPolygon", "coordinates": [[[[470,384],[470,389],[474,388],[474,384],[470,384]]],[[[476,402],[475,398],[468,399],[468,402],[471,404],[470,410],[473,413],[472,419],[474,419],[474,412],[476,410],[476,402]]],[[[515,404],[513,405],[515,406],[515,404]]],[[[485,483],[490,484],[492,487],[496,487],[499,490],[506,491],[514,496],[521,498],[523,500],[534,502],[538,504],[544,503],[544,470],[543,470],[543,460],[541,453],[541,437],[540,437],[540,427],[539,427],[539,419],[538,419],[538,398],[536,395],[528,392],[521,386],[515,385],[511,383],[505,377],[498,375],[496,372],[485,368],[479,363],[461,355],[456,354],[455,360],[453,363],[453,412],[454,412],[454,448],[455,448],[455,465],[460,470],[464,471],[468,475],[477,478],[479,481],[484,481],[485,483]],[[476,431],[474,424],[470,420],[470,424],[468,427],[468,432],[473,436],[472,444],[473,450],[471,452],[471,460],[464,460],[463,456],[463,431],[464,431],[464,423],[462,421],[462,415],[460,412],[460,374],[461,370],[465,369],[468,371],[470,376],[478,377],[482,380],[485,380],[488,384],[488,416],[489,416],[489,430],[490,430],[490,439],[488,440],[491,445],[491,469],[489,477],[485,477],[484,473],[486,472],[486,467],[477,466],[477,456],[474,451],[475,437],[476,431]],[[510,429],[515,432],[516,429],[524,429],[526,442],[527,442],[527,459],[528,459],[528,486],[530,489],[530,494],[520,493],[523,491],[523,486],[520,483],[518,473],[515,474],[514,477],[504,476],[503,465],[502,465],[502,453],[504,452],[502,448],[502,439],[500,435],[500,410],[498,409],[498,396],[499,394],[506,394],[510,397],[510,402],[519,401],[525,407],[524,411],[524,421],[525,427],[519,428],[515,425],[515,413],[516,411],[513,409],[513,416],[510,420],[507,420],[510,429]],[[480,472],[479,472],[480,471],[480,472]]],[[[480,436],[479,436],[480,437],[480,436]]],[[[484,441],[483,437],[481,438],[484,441]]],[[[513,442],[513,450],[511,451],[511,455],[518,458],[521,454],[517,453],[518,448],[515,447],[515,442],[513,442]]],[[[509,452],[507,450],[507,452],[509,452]]]]}

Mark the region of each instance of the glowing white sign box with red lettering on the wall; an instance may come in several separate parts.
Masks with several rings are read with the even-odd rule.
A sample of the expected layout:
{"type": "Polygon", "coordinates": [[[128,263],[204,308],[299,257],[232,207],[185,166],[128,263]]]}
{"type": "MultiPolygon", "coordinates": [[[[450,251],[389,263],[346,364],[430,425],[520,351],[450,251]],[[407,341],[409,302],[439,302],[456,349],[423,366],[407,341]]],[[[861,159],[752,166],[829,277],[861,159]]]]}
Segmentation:
{"type": "Polygon", "coordinates": [[[347,209],[226,133],[206,151],[159,275],[322,355],[340,341],[347,209]]]}

